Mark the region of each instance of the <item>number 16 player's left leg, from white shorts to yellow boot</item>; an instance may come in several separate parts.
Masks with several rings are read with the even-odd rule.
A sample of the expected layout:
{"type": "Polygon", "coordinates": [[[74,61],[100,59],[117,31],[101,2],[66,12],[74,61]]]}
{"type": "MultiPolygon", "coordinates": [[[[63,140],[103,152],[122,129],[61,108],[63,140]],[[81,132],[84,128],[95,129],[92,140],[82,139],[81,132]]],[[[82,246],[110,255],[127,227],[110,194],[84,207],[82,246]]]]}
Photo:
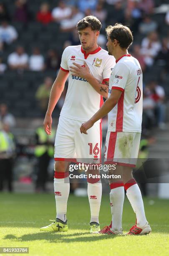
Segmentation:
{"type": "Polygon", "coordinates": [[[67,202],[70,192],[68,165],[74,158],[74,124],[73,120],[60,118],[55,138],[55,175],[54,193],[56,202],[56,220],[41,228],[43,231],[67,231],[67,202]]]}

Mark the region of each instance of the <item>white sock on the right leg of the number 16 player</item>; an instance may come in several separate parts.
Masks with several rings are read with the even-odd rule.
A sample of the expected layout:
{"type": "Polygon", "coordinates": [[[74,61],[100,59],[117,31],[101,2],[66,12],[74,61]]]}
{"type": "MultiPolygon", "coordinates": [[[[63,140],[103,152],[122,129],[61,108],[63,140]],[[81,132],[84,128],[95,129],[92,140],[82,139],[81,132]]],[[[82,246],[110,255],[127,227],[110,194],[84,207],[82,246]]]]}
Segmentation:
{"type": "Polygon", "coordinates": [[[97,183],[88,183],[88,201],[91,208],[91,221],[90,222],[97,222],[100,205],[101,205],[101,194],[102,194],[102,184],[101,181],[97,183]]]}

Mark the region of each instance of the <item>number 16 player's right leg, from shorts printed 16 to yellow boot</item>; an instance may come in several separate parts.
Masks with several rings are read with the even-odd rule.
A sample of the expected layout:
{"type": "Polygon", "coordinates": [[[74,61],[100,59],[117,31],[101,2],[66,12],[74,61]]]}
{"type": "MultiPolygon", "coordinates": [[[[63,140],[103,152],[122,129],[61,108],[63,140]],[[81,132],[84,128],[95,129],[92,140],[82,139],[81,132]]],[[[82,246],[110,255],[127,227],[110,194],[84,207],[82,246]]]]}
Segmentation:
{"type": "MultiPolygon", "coordinates": [[[[101,123],[96,123],[88,130],[88,134],[80,133],[81,122],[77,122],[75,146],[77,161],[83,163],[100,163],[101,161],[101,144],[102,144],[102,127],[101,123]]],[[[91,210],[90,232],[95,233],[100,230],[99,211],[101,205],[102,184],[98,177],[89,177],[91,175],[99,175],[98,166],[88,169],[88,200],[91,210]]]]}

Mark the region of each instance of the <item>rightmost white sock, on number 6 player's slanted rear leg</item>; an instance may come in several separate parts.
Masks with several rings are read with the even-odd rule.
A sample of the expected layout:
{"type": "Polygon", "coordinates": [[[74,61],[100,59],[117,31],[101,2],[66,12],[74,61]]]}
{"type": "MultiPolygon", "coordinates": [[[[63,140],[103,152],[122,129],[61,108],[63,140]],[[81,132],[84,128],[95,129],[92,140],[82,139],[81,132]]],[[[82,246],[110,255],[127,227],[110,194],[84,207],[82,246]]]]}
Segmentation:
{"type": "Polygon", "coordinates": [[[126,195],[131,203],[131,206],[136,213],[137,225],[144,226],[147,222],[145,212],[144,212],[144,203],[141,196],[141,191],[137,184],[132,185],[126,190],[126,195]]]}

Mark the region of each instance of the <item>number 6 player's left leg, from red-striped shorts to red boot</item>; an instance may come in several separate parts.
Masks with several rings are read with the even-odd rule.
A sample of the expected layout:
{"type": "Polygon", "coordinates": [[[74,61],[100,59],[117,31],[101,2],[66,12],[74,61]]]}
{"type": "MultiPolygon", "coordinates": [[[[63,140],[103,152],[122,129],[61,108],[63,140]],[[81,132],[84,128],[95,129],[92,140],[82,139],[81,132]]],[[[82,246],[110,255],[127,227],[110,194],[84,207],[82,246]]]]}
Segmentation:
{"type": "Polygon", "coordinates": [[[122,212],[124,204],[124,183],[123,183],[123,167],[115,165],[114,159],[116,140],[118,133],[107,132],[105,144],[105,163],[108,164],[108,175],[110,184],[110,205],[112,220],[109,226],[104,227],[100,233],[106,234],[122,234],[122,212]],[[112,169],[110,169],[112,166],[112,169]],[[113,177],[118,177],[114,178],[113,177]],[[118,176],[117,176],[118,175],[118,176]]]}

